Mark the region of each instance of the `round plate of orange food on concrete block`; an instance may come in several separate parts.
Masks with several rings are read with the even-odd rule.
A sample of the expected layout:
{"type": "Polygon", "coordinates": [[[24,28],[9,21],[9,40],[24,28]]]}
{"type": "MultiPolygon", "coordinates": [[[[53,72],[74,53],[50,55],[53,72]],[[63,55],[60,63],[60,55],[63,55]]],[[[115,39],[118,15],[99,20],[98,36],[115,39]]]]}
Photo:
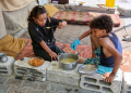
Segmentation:
{"type": "Polygon", "coordinates": [[[44,62],[45,62],[45,59],[41,58],[41,57],[32,57],[32,58],[29,59],[29,65],[37,67],[37,66],[43,65],[44,62]]]}

